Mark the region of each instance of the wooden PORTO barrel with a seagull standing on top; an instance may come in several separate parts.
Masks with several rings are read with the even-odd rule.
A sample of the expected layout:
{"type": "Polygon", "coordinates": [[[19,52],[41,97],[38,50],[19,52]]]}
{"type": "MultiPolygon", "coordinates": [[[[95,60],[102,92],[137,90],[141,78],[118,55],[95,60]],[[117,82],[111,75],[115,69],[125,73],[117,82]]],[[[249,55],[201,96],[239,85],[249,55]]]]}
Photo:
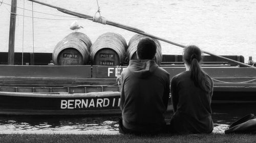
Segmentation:
{"type": "Polygon", "coordinates": [[[84,65],[90,59],[90,38],[79,32],[67,35],[54,47],[52,59],[55,65],[84,65]]]}

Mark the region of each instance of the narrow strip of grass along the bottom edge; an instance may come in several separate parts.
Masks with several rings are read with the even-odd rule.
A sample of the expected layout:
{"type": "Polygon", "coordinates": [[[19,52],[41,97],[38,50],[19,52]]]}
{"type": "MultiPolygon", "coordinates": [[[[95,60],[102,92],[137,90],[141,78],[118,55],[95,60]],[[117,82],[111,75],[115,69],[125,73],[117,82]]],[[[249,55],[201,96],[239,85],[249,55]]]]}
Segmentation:
{"type": "Polygon", "coordinates": [[[71,135],[71,134],[9,134],[0,135],[0,142],[256,142],[255,134],[198,134],[155,136],[135,135],[71,135]]]}

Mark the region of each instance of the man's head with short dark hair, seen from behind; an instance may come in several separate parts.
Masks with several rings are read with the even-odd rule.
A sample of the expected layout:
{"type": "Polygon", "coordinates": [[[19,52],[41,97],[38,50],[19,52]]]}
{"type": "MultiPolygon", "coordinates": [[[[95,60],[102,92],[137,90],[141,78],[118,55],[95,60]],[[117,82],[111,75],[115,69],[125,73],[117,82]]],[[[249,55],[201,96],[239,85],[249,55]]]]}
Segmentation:
{"type": "Polygon", "coordinates": [[[156,43],[151,38],[144,38],[140,40],[137,46],[137,58],[139,60],[154,59],[157,51],[156,43]]]}

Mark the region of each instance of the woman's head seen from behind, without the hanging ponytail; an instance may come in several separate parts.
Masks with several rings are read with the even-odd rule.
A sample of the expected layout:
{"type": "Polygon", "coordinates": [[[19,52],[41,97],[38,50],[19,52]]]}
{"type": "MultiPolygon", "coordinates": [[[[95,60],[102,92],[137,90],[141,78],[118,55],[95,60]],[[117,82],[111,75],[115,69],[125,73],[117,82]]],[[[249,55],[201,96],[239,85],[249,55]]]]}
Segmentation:
{"type": "Polygon", "coordinates": [[[183,51],[183,61],[185,64],[190,66],[193,60],[200,63],[202,61],[202,52],[199,47],[190,45],[187,46],[183,51]]]}

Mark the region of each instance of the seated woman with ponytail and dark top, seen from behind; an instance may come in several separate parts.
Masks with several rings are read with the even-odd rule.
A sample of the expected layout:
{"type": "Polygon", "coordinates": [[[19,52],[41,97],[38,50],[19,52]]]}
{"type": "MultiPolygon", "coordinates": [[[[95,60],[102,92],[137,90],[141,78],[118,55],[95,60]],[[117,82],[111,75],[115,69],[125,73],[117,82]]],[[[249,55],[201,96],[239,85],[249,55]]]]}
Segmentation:
{"type": "Polygon", "coordinates": [[[186,71],[173,77],[171,94],[174,115],[170,121],[175,133],[211,133],[212,79],[201,69],[200,48],[191,45],[184,49],[186,71]]]}

